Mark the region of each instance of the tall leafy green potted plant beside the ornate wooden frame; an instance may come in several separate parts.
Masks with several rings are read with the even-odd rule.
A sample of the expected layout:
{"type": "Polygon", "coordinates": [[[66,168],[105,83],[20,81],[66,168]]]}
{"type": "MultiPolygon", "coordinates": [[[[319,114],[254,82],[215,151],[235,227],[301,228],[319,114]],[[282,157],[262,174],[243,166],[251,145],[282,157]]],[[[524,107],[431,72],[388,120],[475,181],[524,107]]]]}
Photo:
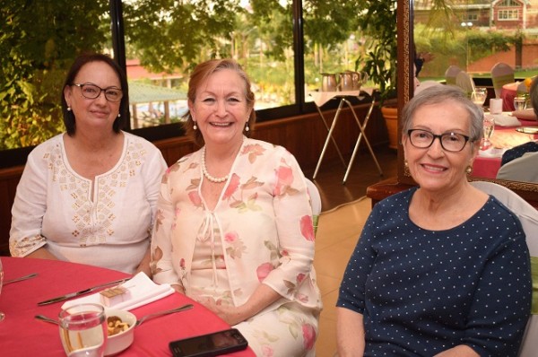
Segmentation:
{"type": "Polygon", "coordinates": [[[366,10],[359,14],[358,23],[369,50],[355,62],[355,70],[369,74],[369,79],[378,87],[388,146],[393,149],[398,145],[396,4],[396,0],[368,0],[366,10]]]}

